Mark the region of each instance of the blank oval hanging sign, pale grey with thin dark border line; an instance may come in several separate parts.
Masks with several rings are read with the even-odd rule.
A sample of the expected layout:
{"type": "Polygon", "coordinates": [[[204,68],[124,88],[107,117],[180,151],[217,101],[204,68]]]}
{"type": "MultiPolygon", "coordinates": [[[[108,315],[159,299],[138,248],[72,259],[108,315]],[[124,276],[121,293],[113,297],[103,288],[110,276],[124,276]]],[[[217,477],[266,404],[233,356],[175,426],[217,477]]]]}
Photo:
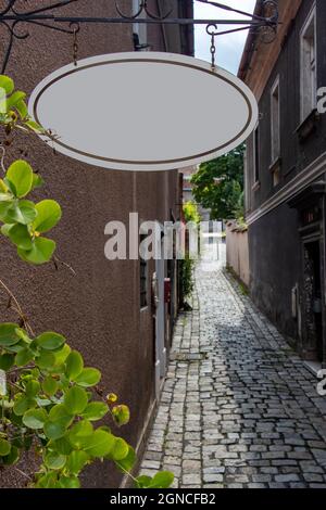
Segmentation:
{"type": "Polygon", "coordinates": [[[170,53],[115,53],[70,64],[34,90],[30,115],[55,149],[118,170],[170,170],[243,142],[256,101],[236,76],[170,53]]]}

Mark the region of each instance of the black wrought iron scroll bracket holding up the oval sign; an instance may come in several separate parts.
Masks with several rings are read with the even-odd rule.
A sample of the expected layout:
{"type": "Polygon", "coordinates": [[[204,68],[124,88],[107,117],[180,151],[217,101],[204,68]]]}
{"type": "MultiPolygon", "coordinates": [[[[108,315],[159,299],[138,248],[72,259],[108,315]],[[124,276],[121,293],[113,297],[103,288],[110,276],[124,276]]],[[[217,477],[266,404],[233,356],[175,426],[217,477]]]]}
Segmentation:
{"type": "MultiPolygon", "coordinates": [[[[277,2],[274,0],[263,0],[261,15],[240,11],[235,8],[230,8],[220,2],[212,0],[186,0],[188,2],[203,3],[206,5],[215,7],[223,11],[234,12],[240,15],[241,18],[216,18],[216,20],[195,20],[195,18],[181,18],[172,17],[174,8],[171,4],[171,9],[162,16],[154,14],[148,7],[148,0],[139,0],[139,9],[136,13],[124,13],[118,4],[115,2],[116,17],[83,17],[83,16],[68,16],[63,15],[64,8],[77,3],[80,0],[62,0],[49,2],[48,5],[34,9],[34,10],[20,10],[18,3],[22,0],[4,0],[5,5],[0,7],[0,25],[4,26],[9,34],[9,41],[7,49],[4,50],[3,62],[2,62],[2,74],[5,72],[11,51],[13,48],[14,40],[26,39],[29,37],[28,27],[41,26],[51,30],[57,30],[62,34],[76,34],[76,27],[79,30],[82,25],[113,25],[113,24],[162,24],[162,25],[206,25],[206,27],[215,26],[216,30],[214,37],[223,36],[239,30],[262,30],[264,36],[267,34],[267,42],[271,42],[276,35],[278,21],[278,8],[277,2]],[[23,30],[18,31],[18,26],[22,25],[23,30]],[[224,27],[222,30],[218,27],[224,27]],[[234,26],[234,28],[225,29],[227,26],[234,26]],[[235,28],[236,26],[236,28],[235,28]]],[[[111,0],[110,0],[111,1],[111,0]]],[[[179,0],[184,1],[185,0],[179,0]]],[[[2,2],[3,3],[3,2],[2,2]]],[[[1,4],[1,0],[0,0],[1,4]]]]}

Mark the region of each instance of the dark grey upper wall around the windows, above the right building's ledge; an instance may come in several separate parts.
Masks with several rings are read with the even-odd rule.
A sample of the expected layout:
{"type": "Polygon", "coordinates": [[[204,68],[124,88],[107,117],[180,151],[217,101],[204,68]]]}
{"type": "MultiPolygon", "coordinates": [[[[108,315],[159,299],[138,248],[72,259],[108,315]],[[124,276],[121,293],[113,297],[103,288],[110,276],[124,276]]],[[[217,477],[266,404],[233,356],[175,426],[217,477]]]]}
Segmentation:
{"type": "MultiPolygon", "coordinates": [[[[315,132],[304,143],[299,142],[296,129],[300,119],[300,30],[313,5],[313,0],[304,0],[293,20],[286,39],[283,41],[280,55],[272,71],[265,90],[259,102],[260,129],[260,189],[251,193],[252,173],[249,174],[248,187],[251,193],[248,212],[255,211],[275,192],[300,174],[319,154],[326,151],[326,116],[322,115],[315,132]],[[273,187],[271,149],[271,88],[277,76],[280,87],[280,183],[273,187]]],[[[326,87],[326,2],[316,1],[317,13],[317,87],[326,87]]],[[[252,137],[248,141],[248,161],[252,166],[252,137]]]]}

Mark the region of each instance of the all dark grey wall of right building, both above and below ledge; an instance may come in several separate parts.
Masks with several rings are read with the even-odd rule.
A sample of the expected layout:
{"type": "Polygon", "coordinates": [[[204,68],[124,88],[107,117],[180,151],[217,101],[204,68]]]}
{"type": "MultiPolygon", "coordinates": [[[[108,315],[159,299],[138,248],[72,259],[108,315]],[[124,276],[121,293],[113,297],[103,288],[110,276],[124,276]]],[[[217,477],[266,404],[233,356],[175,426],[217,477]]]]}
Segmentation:
{"type": "MultiPolygon", "coordinates": [[[[278,61],[259,102],[260,120],[260,188],[252,191],[252,137],[248,141],[248,213],[256,211],[306,166],[326,151],[326,116],[316,131],[303,144],[296,129],[300,125],[300,30],[313,5],[304,0],[293,20],[278,61]],[[280,183],[273,187],[269,170],[271,153],[271,88],[279,76],[280,86],[280,183]]],[[[317,8],[317,81],[326,86],[326,2],[317,8]]],[[[301,242],[298,213],[287,204],[279,205],[249,227],[251,292],[254,302],[285,334],[297,339],[298,323],[291,317],[291,290],[301,275],[301,242]]]]}

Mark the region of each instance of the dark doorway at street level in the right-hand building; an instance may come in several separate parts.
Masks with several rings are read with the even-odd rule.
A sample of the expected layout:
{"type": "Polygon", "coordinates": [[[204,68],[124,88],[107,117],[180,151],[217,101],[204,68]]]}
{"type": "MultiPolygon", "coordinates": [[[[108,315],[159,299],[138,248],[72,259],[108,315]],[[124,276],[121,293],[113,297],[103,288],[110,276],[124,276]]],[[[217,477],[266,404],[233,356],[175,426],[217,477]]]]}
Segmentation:
{"type": "Polygon", "coordinates": [[[319,241],[304,245],[305,350],[323,361],[323,304],[319,241]]]}

